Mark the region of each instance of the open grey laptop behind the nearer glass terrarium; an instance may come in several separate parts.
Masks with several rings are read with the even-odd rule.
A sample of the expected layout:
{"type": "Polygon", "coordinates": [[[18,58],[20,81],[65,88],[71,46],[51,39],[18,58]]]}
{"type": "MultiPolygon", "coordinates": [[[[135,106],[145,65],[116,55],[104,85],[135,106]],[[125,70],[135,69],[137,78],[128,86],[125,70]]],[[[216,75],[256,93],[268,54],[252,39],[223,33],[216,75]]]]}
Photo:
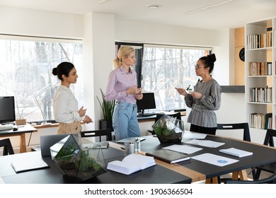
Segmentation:
{"type": "Polygon", "coordinates": [[[51,156],[50,147],[69,135],[70,134],[54,134],[54,135],[40,136],[41,156],[42,157],[51,156]]]}

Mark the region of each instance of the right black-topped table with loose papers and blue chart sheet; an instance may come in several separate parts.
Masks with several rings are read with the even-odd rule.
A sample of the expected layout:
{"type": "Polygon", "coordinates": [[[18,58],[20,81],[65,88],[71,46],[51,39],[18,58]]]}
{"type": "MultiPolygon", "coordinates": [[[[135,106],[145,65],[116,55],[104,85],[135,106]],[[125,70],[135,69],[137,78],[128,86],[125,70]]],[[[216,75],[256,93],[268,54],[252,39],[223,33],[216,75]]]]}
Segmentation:
{"type": "MultiPolygon", "coordinates": [[[[154,136],[144,136],[144,137],[146,138],[146,140],[141,142],[141,150],[144,153],[148,151],[154,151],[154,150],[160,149],[164,146],[172,145],[172,144],[160,144],[159,139],[154,136]]],[[[202,153],[213,153],[215,155],[224,156],[227,158],[234,158],[238,160],[237,163],[232,163],[224,167],[219,167],[217,165],[204,163],[194,159],[190,159],[190,161],[183,161],[178,163],[178,165],[182,166],[183,168],[186,168],[187,170],[193,171],[194,173],[202,173],[203,175],[205,175],[206,179],[217,177],[228,173],[238,173],[239,171],[245,170],[247,168],[252,168],[258,165],[276,162],[276,149],[270,146],[253,144],[248,141],[239,141],[237,139],[229,139],[222,136],[207,135],[205,139],[224,142],[225,144],[223,146],[219,146],[218,148],[207,148],[204,146],[195,146],[203,149],[201,151],[197,151],[195,153],[190,154],[190,156],[197,156],[202,153]],[[251,151],[253,152],[253,155],[246,156],[243,158],[238,158],[235,156],[230,156],[219,152],[219,149],[231,148],[231,147],[238,148],[245,151],[251,151]]],[[[189,139],[183,139],[181,144],[185,144],[185,141],[188,141],[188,140],[189,139]]],[[[189,145],[189,146],[192,146],[192,145],[189,145]]],[[[191,177],[192,181],[196,181],[198,179],[197,177],[193,177],[188,173],[187,173],[187,176],[191,177]]]]}

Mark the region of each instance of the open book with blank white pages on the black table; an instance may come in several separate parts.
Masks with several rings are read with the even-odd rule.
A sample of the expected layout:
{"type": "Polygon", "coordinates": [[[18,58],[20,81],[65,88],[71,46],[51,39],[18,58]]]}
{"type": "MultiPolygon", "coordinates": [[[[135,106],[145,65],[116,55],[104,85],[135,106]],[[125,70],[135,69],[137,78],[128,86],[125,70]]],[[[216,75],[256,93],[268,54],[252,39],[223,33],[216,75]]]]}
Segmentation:
{"type": "Polygon", "coordinates": [[[113,170],[117,173],[130,175],[153,165],[156,165],[153,157],[133,153],[125,156],[122,161],[112,161],[108,163],[107,169],[113,170]]]}

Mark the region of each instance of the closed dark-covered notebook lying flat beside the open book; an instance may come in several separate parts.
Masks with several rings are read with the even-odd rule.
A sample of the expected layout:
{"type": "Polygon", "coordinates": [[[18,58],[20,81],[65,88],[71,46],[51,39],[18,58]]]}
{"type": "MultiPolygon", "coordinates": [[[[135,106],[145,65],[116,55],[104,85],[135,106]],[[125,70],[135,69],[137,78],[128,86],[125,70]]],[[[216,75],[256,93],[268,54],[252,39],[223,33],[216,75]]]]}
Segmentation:
{"type": "Polygon", "coordinates": [[[152,156],[167,163],[178,163],[180,161],[187,161],[190,159],[190,156],[186,153],[179,153],[164,148],[156,151],[147,152],[146,156],[152,156]]]}

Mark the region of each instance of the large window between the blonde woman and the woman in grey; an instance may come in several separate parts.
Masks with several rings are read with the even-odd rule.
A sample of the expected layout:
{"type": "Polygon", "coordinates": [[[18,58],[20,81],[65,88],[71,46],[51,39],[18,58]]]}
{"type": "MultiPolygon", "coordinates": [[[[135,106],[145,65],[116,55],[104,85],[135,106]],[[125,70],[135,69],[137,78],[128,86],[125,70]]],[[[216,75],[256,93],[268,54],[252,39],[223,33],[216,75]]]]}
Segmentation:
{"type": "Polygon", "coordinates": [[[154,92],[157,110],[185,109],[183,95],[175,88],[195,86],[199,79],[195,76],[195,64],[210,50],[207,47],[144,45],[142,87],[144,92],[154,92]]]}

